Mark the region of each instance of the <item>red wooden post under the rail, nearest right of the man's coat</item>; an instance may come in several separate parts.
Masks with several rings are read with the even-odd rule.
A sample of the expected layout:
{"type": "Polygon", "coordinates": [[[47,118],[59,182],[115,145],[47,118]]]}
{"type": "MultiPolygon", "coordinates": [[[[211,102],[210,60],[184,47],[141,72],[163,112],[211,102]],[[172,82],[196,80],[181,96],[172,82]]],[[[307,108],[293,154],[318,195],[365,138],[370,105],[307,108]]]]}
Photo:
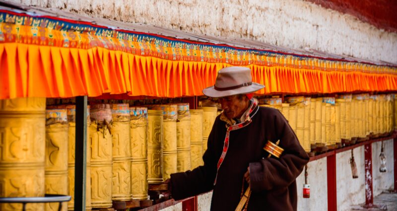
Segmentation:
{"type": "Polygon", "coordinates": [[[336,211],[336,155],[327,156],[328,211],[336,211]]]}

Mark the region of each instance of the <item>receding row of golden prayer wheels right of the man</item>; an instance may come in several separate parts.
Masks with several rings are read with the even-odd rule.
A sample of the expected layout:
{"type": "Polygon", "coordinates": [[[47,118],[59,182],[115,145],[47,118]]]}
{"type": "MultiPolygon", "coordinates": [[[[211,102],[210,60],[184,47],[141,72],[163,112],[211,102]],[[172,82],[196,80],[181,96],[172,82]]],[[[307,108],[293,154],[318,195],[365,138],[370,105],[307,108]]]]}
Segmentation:
{"type": "Polygon", "coordinates": [[[260,99],[260,106],[280,110],[305,151],[333,149],[343,140],[366,138],[396,128],[395,95],[340,95],[324,98],[260,99]]]}

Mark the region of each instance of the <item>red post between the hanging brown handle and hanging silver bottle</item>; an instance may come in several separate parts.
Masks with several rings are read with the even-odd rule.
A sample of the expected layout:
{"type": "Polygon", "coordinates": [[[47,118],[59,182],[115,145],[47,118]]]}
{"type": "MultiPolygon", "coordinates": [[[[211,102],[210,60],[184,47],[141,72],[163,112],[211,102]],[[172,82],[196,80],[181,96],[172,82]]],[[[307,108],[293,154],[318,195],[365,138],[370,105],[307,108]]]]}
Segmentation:
{"type": "Polygon", "coordinates": [[[374,195],[372,191],[372,143],[364,146],[365,160],[365,207],[374,206],[374,195]]]}

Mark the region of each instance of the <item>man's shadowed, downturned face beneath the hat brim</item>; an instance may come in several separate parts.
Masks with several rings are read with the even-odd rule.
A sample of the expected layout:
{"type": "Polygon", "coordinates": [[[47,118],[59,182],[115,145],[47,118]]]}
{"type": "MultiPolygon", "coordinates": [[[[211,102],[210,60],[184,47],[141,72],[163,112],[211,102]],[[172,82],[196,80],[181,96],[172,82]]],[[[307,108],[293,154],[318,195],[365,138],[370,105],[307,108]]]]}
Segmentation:
{"type": "Polygon", "coordinates": [[[237,95],[219,98],[223,113],[229,119],[240,118],[248,106],[248,98],[242,96],[241,99],[237,95]]]}

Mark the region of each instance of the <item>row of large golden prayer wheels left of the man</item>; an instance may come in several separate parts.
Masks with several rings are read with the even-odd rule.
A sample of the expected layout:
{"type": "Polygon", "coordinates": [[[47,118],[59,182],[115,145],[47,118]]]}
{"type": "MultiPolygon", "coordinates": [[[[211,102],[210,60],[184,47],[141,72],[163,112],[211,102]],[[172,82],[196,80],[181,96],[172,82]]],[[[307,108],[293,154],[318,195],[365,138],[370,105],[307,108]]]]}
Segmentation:
{"type": "MultiPolygon", "coordinates": [[[[147,199],[148,183],[202,165],[216,107],[188,104],[129,107],[93,104],[87,120],[86,209],[112,201],[147,199]]],[[[0,101],[0,197],[72,196],[75,106],[46,108],[45,98],[0,101]]],[[[2,204],[1,210],[20,210],[2,204]]],[[[58,210],[58,203],[28,204],[27,210],[58,210]]]]}

